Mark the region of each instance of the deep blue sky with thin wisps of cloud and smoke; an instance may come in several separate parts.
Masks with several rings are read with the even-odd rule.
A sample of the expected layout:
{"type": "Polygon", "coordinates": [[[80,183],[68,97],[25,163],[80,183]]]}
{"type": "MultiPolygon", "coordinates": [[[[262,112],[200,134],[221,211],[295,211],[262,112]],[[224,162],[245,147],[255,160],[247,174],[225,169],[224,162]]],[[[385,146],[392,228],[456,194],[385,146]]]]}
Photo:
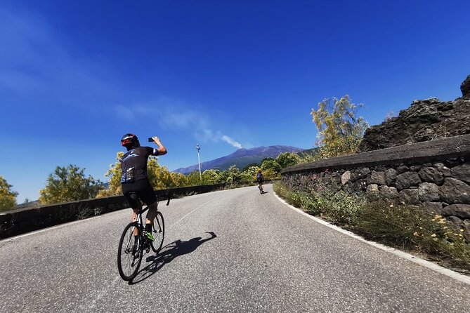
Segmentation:
{"type": "Polygon", "coordinates": [[[170,170],[237,147],[314,146],[309,113],[350,95],[371,125],[453,100],[470,74],[470,1],[0,3],[0,175],[39,197],[56,166],[104,174],[124,133],[170,170]]]}

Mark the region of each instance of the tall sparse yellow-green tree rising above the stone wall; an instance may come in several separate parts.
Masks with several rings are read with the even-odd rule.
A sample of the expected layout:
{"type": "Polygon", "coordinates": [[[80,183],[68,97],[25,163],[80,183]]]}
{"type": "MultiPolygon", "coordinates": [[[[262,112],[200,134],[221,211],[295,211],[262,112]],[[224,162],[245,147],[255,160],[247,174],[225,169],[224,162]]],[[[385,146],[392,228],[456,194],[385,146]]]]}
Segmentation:
{"type": "Polygon", "coordinates": [[[318,109],[312,109],[311,116],[318,128],[318,140],[321,159],[357,152],[363,138],[367,121],[357,116],[358,108],[345,95],[341,99],[328,98],[318,103],[318,109]]]}

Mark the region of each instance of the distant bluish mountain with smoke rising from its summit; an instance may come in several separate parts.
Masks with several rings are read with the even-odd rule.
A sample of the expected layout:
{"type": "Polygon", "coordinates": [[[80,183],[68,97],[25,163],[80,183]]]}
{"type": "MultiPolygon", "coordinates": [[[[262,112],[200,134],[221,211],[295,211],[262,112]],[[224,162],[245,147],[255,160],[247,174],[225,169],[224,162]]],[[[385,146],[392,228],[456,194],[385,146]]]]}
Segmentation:
{"type": "MultiPolygon", "coordinates": [[[[228,156],[223,156],[221,158],[202,162],[201,171],[207,169],[218,169],[220,171],[225,171],[230,166],[237,166],[237,168],[244,168],[248,164],[258,163],[265,158],[277,158],[278,155],[282,152],[301,152],[303,149],[289,146],[270,146],[270,147],[256,147],[251,149],[237,149],[233,154],[228,156]]],[[[199,171],[199,166],[197,164],[193,166],[188,166],[186,168],[178,168],[174,172],[188,174],[192,171],[199,171]]]]}

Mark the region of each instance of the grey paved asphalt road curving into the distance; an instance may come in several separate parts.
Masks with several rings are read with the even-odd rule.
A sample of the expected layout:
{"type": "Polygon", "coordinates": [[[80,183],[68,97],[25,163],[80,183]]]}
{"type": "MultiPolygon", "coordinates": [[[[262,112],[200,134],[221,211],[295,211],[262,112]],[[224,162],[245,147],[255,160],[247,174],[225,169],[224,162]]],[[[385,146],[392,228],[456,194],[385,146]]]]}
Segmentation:
{"type": "Polygon", "coordinates": [[[131,210],[0,241],[0,312],[469,312],[470,286],[296,213],[266,186],[160,206],[167,237],[131,284],[131,210]]]}

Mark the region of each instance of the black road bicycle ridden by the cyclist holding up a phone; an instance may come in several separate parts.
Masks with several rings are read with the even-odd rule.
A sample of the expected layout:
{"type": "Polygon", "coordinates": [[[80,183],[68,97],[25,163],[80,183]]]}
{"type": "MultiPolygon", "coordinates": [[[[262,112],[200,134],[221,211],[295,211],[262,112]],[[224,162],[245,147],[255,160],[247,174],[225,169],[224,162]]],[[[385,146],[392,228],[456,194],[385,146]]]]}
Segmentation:
{"type": "MultiPolygon", "coordinates": [[[[131,193],[129,197],[133,200],[138,200],[138,196],[135,193],[131,193]]],[[[170,204],[170,199],[171,197],[167,196],[167,206],[170,204]]],[[[125,281],[130,281],[136,277],[144,253],[149,253],[150,249],[158,253],[163,245],[165,223],[160,211],[157,211],[152,225],[152,235],[155,241],[148,240],[143,234],[145,224],[143,223],[142,213],[147,210],[148,206],[141,207],[138,210],[136,220],[126,225],[124,232],[122,232],[121,239],[119,239],[117,269],[119,275],[121,275],[122,279],[125,281]],[[134,244],[135,241],[137,241],[137,244],[134,244]]]]}

